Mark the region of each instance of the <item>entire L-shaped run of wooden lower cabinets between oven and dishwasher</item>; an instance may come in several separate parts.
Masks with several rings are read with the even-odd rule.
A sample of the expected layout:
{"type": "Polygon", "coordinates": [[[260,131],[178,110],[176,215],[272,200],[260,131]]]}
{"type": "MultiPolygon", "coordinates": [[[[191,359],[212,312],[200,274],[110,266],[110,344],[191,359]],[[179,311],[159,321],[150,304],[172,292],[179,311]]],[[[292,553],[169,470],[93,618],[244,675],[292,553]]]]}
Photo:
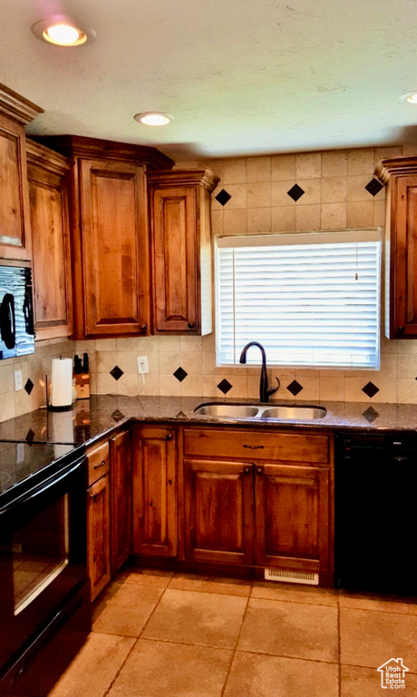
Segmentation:
{"type": "Polygon", "coordinates": [[[333,585],[333,452],[323,431],[157,424],[91,448],[92,599],[131,555],[202,573],[318,574],[333,585]]]}

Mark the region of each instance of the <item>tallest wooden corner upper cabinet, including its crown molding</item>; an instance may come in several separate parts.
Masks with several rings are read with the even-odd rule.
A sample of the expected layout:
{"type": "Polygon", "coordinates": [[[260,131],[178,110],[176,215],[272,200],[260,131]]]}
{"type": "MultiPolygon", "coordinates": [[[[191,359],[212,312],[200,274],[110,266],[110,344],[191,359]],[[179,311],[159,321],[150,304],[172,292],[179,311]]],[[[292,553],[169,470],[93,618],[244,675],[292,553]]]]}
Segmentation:
{"type": "Polygon", "coordinates": [[[79,136],[42,141],[74,162],[70,226],[75,339],[149,334],[147,168],[155,148],[79,136]]]}

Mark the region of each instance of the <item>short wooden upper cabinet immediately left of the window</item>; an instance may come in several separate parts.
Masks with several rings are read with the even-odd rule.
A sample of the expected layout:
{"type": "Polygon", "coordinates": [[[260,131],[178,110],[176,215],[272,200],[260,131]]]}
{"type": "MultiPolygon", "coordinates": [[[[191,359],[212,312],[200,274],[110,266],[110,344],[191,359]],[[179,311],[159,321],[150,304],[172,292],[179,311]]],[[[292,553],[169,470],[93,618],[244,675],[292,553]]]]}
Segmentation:
{"type": "Polygon", "coordinates": [[[150,172],[153,333],[211,332],[209,170],[150,172]]]}

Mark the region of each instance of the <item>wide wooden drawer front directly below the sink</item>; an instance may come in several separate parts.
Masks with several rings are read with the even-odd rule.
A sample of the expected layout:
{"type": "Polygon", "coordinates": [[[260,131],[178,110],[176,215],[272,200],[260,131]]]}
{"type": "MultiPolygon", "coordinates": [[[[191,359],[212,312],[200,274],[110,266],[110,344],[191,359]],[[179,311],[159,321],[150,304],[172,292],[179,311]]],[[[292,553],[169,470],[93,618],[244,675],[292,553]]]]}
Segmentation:
{"type": "Polygon", "coordinates": [[[329,441],[328,434],[185,428],[184,454],[328,465],[329,441]]]}

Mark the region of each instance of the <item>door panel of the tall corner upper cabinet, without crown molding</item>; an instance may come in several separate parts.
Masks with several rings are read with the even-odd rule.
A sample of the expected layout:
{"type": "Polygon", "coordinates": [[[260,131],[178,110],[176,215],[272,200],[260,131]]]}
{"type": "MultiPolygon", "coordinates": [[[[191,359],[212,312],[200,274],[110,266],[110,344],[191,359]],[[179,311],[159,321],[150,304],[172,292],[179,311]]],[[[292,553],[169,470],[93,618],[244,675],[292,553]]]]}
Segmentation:
{"type": "Polygon", "coordinates": [[[150,299],[144,168],[100,160],[81,159],[78,164],[85,336],[147,334],[150,299]]]}

